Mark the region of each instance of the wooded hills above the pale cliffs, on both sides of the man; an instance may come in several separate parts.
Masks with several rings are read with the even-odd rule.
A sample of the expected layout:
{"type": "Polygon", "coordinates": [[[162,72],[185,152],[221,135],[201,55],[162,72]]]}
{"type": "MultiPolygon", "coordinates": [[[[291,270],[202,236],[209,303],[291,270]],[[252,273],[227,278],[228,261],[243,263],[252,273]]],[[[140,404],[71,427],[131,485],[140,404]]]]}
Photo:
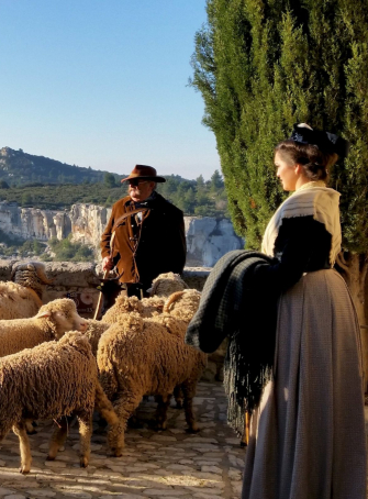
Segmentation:
{"type": "MultiPolygon", "coordinates": [[[[126,196],[127,186],[120,182],[126,176],[67,165],[22,149],[0,149],[0,202],[16,202],[23,208],[63,210],[75,203],[111,207],[126,196]]],[[[230,217],[224,182],[218,170],[207,181],[202,175],[196,180],[180,175],[165,178],[165,184],[157,185],[157,191],[186,215],[230,217]]]]}

